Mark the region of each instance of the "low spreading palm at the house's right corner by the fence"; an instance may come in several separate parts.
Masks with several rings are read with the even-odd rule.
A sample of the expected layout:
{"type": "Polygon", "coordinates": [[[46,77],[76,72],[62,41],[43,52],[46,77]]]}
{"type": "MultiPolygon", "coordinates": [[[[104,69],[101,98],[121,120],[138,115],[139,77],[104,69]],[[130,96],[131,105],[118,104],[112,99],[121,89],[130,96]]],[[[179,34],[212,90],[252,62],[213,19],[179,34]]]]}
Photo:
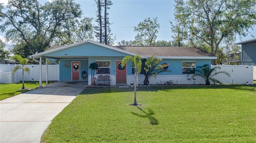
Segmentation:
{"type": "Polygon", "coordinates": [[[201,76],[202,78],[204,78],[206,85],[210,85],[210,80],[214,83],[217,82],[222,84],[222,82],[214,78],[214,76],[216,76],[219,73],[223,73],[223,74],[226,74],[227,76],[230,76],[230,74],[226,71],[216,71],[216,69],[221,69],[220,67],[214,67],[210,69],[208,64],[204,64],[203,66],[197,66],[196,68],[197,68],[196,71],[198,73],[194,74],[192,78],[194,76],[201,76]]]}

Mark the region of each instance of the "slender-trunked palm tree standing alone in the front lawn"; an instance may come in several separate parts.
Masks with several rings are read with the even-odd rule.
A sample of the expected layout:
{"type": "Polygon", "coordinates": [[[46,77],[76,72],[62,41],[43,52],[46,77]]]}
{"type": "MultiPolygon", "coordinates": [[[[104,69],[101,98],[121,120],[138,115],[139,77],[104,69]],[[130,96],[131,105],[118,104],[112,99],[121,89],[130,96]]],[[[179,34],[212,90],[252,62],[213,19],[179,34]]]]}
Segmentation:
{"type": "Polygon", "coordinates": [[[132,104],[133,106],[137,106],[137,101],[136,101],[136,89],[137,89],[137,76],[140,74],[141,71],[141,57],[140,55],[135,55],[135,56],[125,56],[124,59],[122,60],[122,66],[124,66],[127,61],[130,61],[130,63],[135,67],[135,81],[134,81],[134,103],[132,104]]]}

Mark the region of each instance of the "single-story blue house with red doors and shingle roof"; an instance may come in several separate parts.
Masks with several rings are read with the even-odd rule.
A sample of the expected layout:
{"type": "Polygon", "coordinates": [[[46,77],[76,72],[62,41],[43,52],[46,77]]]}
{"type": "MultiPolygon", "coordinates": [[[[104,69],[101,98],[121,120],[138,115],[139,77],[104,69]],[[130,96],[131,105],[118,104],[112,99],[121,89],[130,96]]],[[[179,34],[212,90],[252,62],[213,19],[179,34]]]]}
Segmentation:
{"type": "MultiPolygon", "coordinates": [[[[156,55],[157,58],[162,59],[160,64],[169,64],[168,69],[172,71],[159,73],[156,79],[150,78],[149,84],[164,84],[170,80],[173,80],[174,84],[194,84],[193,80],[188,80],[188,77],[191,78],[196,67],[204,64],[211,65],[211,60],[217,59],[215,55],[196,47],[108,46],[92,40],[62,47],[50,47],[47,51],[32,55],[32,58],[35,61],[39,58],[40,65],[42,65],[42,58],[59,59],[60,81],[88,81],[88,85],[92,84],[93,74],[89,66],[96,62],[99,69],[95,71],[94,76],[97,78],[99,75],[110,75],[110,84],[118,85],[130,84],[134,81],[134,67],[131,63],[128,62],[124,69],[118,68],[118,65],[125,56],[137,54],[144,59],[156,55]],[[87,77],[84,77],[85,72],[87,77]]],[[[143,80],[144,75],[138,75],[138,84],[143,84],[143,80]]],[[[39,82],[42,83],[42,81],[39,82]]],[[[205,84],[203,79],[196,79],[195,82],[205,84]]]]}

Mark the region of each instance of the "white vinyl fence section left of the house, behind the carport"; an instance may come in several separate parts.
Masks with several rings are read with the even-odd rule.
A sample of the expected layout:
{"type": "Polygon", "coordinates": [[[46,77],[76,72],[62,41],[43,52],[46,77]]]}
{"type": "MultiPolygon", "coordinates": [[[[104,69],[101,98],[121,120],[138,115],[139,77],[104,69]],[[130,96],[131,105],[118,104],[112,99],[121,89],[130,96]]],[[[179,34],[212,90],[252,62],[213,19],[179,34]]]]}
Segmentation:
{"type": "MultiPolygon", "coordinates": [[[[10,64],[0,64],[0,83],[7,83],[6,79],[6,72],[12,72],[14,66],[17,65],[10,65],[10,64]],[[2,82],[4,81],[4,82],[2,82]]],[[[39,65],[26,65],[30,70],[30,74],[24,71],[24,81],[39,81],[39,65]]],[[[12,75],[14,75],[12,73],[12,75]]],[[[10,74],[9,74],[10,76],[10,74]]],[[[19,77],[19,81],[22,81],[22,70],[18,70],[15,73],[15,76],[19,77]],[[18,74],[18,75],[17,75],[18,74]]],[[[10,76],[11,77],[11,76],[10,76]]],[[[9,78],[10,78],[9,77],[9,78]]],[[[59,65],[48,65],[48,80],[49,81],[58,81],[59,80],[59,65]]],[[[13,78],[13,77],[11,77],[13,78]]],[[[42,65],[42,81],[46,81],[46,65],[42,65]]],[[[12,82],[14,82],[12,80],[12,82]]],[[[9,82],[11,83],[11,82],[9,82]]]]}

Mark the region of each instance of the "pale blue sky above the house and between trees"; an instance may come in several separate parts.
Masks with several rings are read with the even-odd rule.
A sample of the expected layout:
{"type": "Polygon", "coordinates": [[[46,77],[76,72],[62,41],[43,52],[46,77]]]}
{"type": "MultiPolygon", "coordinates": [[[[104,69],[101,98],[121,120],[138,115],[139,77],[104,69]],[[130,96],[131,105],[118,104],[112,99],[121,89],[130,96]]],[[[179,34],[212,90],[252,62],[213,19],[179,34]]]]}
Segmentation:
{"type": "MultiPolygon", "coordinates": [[[[7,4],[8,0],[1,0],[4,4],[7,4]]],[[[39,0],[41,4],[44,4],[46,0],[39,0]]],[[[94,0],[75,0],[76,3],[81,5],[81,10],[84,17],[94,18],[94,24],[96,19],[96,5],[94,0]]],[[[122,40],[130,41],[134,40],[136,32],[134,26],[137,26],[143,20],[150,18],[158,18],[160,29],[157,34],[156,40],[172,40],[171,24],[174,22],[174,0],[112,0],[112,5],[108,10],[109,21],[113,23],[110,25],[112,38],[116,36],[114,43],[118,43],[122,40]]],[[[256,37],[256,26],[254,29],[250,29],[250,33],[246,37],[240,39],[237,37],[236,42],[252,39],[253,35],[256,37]]],[[[4,40],[4,33],[0,33],[0,39],[4,40]]],[[[96,40],[96,39],[95,39],[96,40]]],[[[8,49],[12,43],[6,43],[8,49]]]]}

